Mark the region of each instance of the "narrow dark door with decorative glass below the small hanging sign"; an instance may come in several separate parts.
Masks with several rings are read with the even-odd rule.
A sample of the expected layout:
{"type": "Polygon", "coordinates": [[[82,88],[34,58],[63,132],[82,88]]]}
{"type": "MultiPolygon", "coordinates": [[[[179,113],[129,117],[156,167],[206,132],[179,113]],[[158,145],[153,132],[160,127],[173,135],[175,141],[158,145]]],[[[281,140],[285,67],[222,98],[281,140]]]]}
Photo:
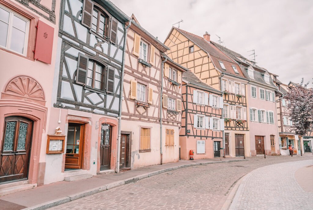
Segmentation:
{"type": "Polygon", "coordinates": [[[100,140],[100,171],[110,169],[111,160],[111,139],[112,139],[112,126],[107,130],[101,130],[100,140]]]}

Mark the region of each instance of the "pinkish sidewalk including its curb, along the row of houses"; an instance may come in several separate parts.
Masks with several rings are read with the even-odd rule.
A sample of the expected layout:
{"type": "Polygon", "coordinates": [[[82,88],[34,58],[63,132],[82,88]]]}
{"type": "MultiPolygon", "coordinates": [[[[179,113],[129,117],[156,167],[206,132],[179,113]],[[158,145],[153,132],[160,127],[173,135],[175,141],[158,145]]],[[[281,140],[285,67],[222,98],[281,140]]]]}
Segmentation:
{"type": "Polygon", "coordinates": [[[96,175],[90,179],[84,179],[80,181],[60,181],[0,197],[0,209],[1,207],[6,207],[6,209],[10,210],[19,210],[26,207],[30,207],[28,209],[46,209],[48,207],[70,202],[117,186],[136,182],[147,177],[155,176],[160,173],[176,170],[179,168],[192,165],[204,165],[242,160],[244,160],[243,157],[226,159],[222,158],[222,161],[220,161],[219,158],[192,161],[181,160],[177,163],[143,167],[121,172],[120,174],[96,175]]]}

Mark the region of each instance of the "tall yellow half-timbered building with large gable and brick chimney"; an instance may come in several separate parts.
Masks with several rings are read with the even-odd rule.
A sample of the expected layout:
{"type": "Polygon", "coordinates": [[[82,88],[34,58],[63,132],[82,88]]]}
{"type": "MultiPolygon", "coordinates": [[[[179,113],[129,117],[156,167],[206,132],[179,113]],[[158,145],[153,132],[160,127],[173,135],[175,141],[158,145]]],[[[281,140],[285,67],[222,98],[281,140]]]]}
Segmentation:
{"type": "Polygon", "coordinates": [[[207,85],[224,92],[225,156],[250,155],[248,79],[238,63],[214,46],[208,33],[200,37],[173,27],[164,43],[170,48],[167,55],[172,60],[192,71],[207,85]]]}

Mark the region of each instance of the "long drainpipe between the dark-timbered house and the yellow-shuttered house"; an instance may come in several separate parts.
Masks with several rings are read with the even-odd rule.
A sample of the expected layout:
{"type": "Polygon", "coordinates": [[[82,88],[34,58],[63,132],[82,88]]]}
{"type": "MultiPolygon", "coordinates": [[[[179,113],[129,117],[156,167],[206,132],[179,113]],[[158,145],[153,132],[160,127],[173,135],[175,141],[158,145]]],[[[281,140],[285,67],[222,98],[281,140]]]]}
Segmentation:
{"type": "Polygon", "coordinates": [[[127,29],[131,26],[131,19],[129,19],[128,26],[124,29],[124,48],[123,61],[121,72],[121,87],[120,87],[120,102],[119,102],[119,117],[118,117],[118,139],[117,139],[117,154],[116,154],[116,173],[120,173],[120,153],[121,153],[121,121],[122,121],[122,102],[123,102],[123,87],[124,87],[124,71],[125,71],[125,53],[126,53],[126,39],[127,29]]]}

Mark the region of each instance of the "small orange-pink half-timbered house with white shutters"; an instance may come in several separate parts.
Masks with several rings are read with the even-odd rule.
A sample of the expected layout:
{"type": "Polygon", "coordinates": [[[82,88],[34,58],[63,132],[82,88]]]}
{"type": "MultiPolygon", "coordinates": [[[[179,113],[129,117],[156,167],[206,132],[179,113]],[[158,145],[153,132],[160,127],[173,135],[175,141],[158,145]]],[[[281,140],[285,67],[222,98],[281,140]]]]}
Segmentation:
{"type": "Polygon", "coordinates": [[[194,159],[221,157],[223,92],[187,71],[182,75],[182,103],[181,159],[189,160],[190,150],[194,159]]]}

